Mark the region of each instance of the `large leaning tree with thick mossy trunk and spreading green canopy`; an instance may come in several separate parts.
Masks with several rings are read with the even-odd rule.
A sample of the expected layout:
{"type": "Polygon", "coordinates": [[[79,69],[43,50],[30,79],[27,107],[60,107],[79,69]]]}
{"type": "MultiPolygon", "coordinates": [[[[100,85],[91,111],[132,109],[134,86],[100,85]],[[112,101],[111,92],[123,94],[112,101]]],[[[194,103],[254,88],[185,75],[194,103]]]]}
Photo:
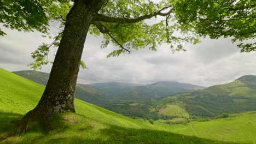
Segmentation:
{"type": "MultiPolygon", "coordinates": [[[[138,50],[144,47],[155,51],[156,47],[163,43],[167,43],[173,51],[184,50],[183,43],[198,43],[197,36],[200,35],[210,35],[211,38],[234,36],[239,40],[254,38],[255,35],[255,1],[29,2],[0,1],[0,14],[3,14],[0,22],[4,23],[3,26],[25,31],[37,29],[47,34],[48,22],[55,20],[61,21],[60,27],[63,27],[63,31],[54,37],[53,43],[43,44],[32,53],[36,60],[31,65],[37,68],[48,63],[45,56],[52,46],[57,46],[49,81],[42,98],[38,105],[19,121],[20,130],[26,129],[27,122],[45,119],[53,113],[75,112],[74,88],[88,32],[103,35],[102,47],[107,47],[109,43],[119,47],[109,53],[108,57],[119,56],[122,52],[130,53],[131,49],[138,50]],[[237,12],[234,12],[236,10],[237,12]],[[24,14],[19,13],[22,11],[25,11],[24,14]],[[237,21],[233,19],[236,15],[241,16],[237,21]],[[147,21],[149,19],[155,20],[147,21]],[[252,24],[246,25],[247,20],[252,24]],[[243,24],[242,28],[237,27],[239,23],[243,24]],[[246,28],[249,30],[245,33],[239,33],[237,30],[246,28]],[[237,33],[240,34],[239,37],[237,33]]],[[[3,35],[1,32],[0,30],[0,34],[3,35]]]]}

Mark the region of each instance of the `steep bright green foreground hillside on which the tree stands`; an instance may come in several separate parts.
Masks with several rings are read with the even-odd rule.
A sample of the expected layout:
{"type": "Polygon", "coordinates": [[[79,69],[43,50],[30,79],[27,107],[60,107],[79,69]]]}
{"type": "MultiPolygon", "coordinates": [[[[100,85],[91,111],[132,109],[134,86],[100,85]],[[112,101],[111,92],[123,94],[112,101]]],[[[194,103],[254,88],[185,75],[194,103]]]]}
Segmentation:
{"type": "Polygon", "coordinates": [[[224,142],[218,141],[218,137],[208,140],[174,134],[168,131],[166,124],[137,121],[78,99],[75,99],[76,114],[59,114],[50,119],[53,130],[43,131],[38,127],[24,136],[4,139],[12,128],[11,121],[33,109],[43,89],[43,85],[0,69],[0,143],[235,143],[229,137],[223,140],[230,142],[224,142]]]}

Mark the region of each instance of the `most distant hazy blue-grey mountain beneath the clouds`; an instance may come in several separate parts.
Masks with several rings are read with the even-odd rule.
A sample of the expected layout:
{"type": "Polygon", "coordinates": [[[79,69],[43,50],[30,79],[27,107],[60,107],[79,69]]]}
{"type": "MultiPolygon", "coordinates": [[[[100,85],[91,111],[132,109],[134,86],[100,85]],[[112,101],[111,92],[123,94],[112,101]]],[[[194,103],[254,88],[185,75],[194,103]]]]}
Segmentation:
{"type": "Polygon", "coordinates": [[[180,83],[176,81],[160,81],[149,85],[139,85],[136,83],[93,83],[90,86],[96,87],[103,92],[113,95],[116,100],[147,100],[152,98],[162,98],[166,95],[177,92],[189,92],[204,87],[180,83]]]}

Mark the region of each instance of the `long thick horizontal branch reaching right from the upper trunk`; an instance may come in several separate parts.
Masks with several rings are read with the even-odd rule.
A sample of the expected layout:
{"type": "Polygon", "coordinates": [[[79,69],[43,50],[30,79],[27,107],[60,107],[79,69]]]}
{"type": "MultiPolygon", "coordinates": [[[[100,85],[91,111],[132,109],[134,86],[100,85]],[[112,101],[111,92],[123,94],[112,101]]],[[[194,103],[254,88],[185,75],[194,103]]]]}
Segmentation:
{"type": "Polygon", "coordinates": [[[139,16],[139,17],[133,18],[133,19],[127,18],[127,17],[110,17],[110,16],[106,16],[103,14],[97,14],[93,21],[115,22],[115,23],[136,23],[139,21],[150,19],[157,15],[167,16],[167,15],[173,13],[173,8],[171,8],[169,11],[167,11],[167,13],[162,13],[163,10],[166,10],[168,8],[171,8],[171,5],[169,7],[162,8],[159,11],[156,11],[155,13],[139,16]]]}

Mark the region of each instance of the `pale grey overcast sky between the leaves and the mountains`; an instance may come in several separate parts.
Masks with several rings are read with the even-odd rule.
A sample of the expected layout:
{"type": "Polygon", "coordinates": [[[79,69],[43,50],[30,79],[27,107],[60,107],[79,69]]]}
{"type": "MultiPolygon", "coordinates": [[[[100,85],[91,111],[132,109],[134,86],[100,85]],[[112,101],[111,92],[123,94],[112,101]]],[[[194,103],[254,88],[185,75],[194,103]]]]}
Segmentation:
{"type": "MultiPolygon", "coordinates": [[[[38,32],[24,33],[1,29],[7,33],[0,39],[0,67],[9,71],[28,70],[31,52],[43,42],[49,43],[38,32]]],[[[80,69],[78,82],[133,82],[179,81],[201,86],[230,82],[242,75],[256,75],[255,52],[240,53],[230,39],[201,39],[197,45],[187,45],[186,52],[172,53],[166,45],[158,51],[141,49],[106,58],[117,47],[101,49],[101,37],[88,35],[82,60],[89,69],[80,69]]],[[[51,65],[40,71],[49,73],[51,65]]]]}

